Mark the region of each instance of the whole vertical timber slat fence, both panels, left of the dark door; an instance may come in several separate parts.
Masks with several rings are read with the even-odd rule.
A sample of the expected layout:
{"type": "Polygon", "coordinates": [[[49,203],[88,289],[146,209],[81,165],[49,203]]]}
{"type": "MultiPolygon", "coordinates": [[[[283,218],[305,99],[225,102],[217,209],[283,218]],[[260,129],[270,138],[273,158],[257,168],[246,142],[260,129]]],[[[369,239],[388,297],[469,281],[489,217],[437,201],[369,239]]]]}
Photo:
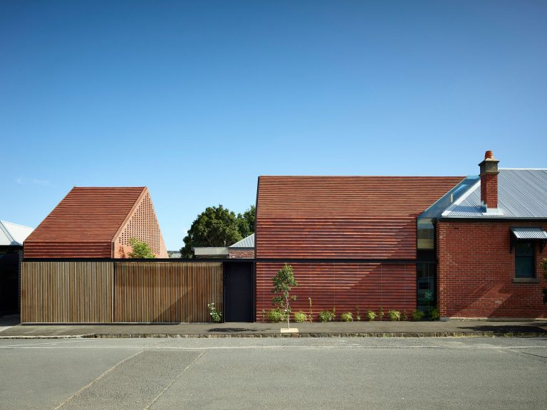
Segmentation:
{"type": "Polygon", "coordinates": [[[210,322],[222,276],[222,263],[25,261],[21,322],[210,322]]]}

